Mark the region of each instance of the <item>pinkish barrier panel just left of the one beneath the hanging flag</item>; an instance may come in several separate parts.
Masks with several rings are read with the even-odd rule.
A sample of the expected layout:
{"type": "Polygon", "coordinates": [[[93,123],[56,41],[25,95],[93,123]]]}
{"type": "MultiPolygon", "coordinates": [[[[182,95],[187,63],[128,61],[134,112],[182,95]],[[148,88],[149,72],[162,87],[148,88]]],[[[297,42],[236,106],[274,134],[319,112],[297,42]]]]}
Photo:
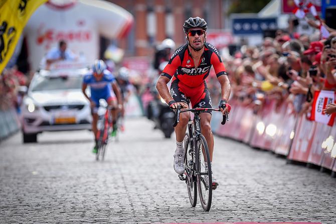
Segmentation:
{"type": "Polygon", "coordinates": [[[300,162],[308,161],[316,124],[316,122],[307,121],[305,115],[299,118],[288,159],[300,162]]]}

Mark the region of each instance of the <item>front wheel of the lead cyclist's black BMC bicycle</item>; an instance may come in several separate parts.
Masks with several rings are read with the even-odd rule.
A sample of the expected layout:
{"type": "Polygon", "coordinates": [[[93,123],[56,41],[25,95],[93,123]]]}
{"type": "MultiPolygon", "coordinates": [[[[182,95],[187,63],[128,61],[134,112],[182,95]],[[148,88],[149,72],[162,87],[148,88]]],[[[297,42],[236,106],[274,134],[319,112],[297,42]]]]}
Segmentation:
{"type": "Polygon", "coordinates": [[[209,148],[206,139],[200,135],[197,140],[197,186],[200,201],[205,211],[209,211],[212,201],[212,176],[209,148]],[[208,164],[208,170],[205,169],[208,164]],[[210,187],[209,187],[210,186],[210,187]]]}

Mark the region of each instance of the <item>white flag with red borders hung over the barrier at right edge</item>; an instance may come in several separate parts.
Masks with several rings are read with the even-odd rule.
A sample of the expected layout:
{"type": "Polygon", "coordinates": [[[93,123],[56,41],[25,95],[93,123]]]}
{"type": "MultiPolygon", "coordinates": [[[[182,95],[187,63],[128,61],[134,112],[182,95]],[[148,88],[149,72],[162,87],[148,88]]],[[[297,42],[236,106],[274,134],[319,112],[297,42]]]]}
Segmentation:
{"type": "Polygon", "coordinates": [[[331,115],[327,115],[323,112],[323,109],[326,107],[326,105],[333,102],[335,102],[334,91],[315,91],[309,120],[332,126],[335,119],[335,114],[332,113],[331,115]]]}

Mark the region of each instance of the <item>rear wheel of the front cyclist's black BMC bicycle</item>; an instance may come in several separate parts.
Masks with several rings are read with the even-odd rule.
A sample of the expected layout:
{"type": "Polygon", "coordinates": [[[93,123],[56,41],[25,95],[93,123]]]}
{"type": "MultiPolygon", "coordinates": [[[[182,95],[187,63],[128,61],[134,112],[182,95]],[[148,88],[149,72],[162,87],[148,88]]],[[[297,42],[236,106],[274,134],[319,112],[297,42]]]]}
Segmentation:
{"type": "Polygon", "coordinates": [[[186,184],[188,189],[188,195],[190,203],[193,207],[196,206],[197,203],[197,182],[194,176],[195,171],[195,162],[193,160],[194,150],[190,147],[190,138],[189,134],[186,133],[184,139],[184,147],[185,147],[185,160],[184,165],[186,168],[186,184]]]}

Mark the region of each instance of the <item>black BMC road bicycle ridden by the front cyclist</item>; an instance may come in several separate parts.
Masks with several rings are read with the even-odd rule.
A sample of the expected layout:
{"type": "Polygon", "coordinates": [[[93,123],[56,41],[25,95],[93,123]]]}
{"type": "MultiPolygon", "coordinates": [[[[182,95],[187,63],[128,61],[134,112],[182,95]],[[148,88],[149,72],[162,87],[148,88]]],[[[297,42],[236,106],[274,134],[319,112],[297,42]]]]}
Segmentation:
{"type": "MultiPolygon", "coordinates": [[[[193,207],[197,203],[197,189],[202,207],[205,211],[209,211],[212,202],[212,190],[216,186],[212,185],[212,171],[210,163],[210,154],[207,141],[201,133],[201,117],[200,114],[206,111],[221,111],[215,108],[193,108],[181,110],[181,106],[175,110],[176,118],[174,127],[180,122],[180,113],[192,112],[194,119],[188,122],[188,133],[184,138],[185,173],[180,174],[180,180],[186,181],[190,203],[193,207]],[[203,156],[202,156],[202,154],[203,156]],[[208,169],[206,169],[206,164],[208,169]],[[212,186],[212,187],[209,187],[212,186]]],[[[223,115],[222,125],[229,121],[228,114],[223,115]]]]}

